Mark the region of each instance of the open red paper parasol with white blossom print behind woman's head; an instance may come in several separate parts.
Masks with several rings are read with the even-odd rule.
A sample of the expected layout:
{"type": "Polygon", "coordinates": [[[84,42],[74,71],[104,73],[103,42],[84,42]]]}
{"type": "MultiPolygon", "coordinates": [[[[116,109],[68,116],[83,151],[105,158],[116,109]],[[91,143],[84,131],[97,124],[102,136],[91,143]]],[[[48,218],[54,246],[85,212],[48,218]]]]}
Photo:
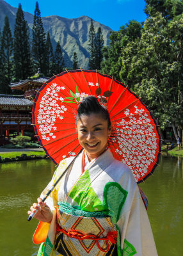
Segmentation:
{"type": "Polygon", "coordinates": [[[33,104],[33,125],[47,156],[56,164],[76,156],[76,113],[87,95],[98,97],[111,117],[109,148],[127,164],[136,182],[145,180],[159,161],[161,138],[150,110],[127,86],[94,70],[65,71],[40,88],[33,104]]]}

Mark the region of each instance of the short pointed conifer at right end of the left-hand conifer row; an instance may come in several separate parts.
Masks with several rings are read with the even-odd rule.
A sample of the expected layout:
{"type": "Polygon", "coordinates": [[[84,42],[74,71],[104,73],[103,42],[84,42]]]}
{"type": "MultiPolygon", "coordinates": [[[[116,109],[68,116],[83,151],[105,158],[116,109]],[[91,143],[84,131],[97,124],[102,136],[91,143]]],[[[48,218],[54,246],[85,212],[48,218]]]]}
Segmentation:
{"type": "Polygon", "coordinates": [[[54,73],[60,74],[61,72],[63,72],[64,65],[64,58],[61,51],[60,42],[58,41],[54,52],[54,73]]]}

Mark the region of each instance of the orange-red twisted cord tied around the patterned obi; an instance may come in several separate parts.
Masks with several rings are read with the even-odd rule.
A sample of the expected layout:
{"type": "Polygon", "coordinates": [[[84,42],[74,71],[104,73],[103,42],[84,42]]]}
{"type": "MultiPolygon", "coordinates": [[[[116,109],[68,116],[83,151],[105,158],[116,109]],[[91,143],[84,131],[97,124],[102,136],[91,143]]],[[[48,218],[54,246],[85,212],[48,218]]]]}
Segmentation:
{"type": "Polygon", "coordinates": [[[69,232],[67,232],[67,231],[65,231],[63,228],[61,228],[61,227],[58,225],[58,223],[57,223],[57,225],[56,225],[56,231],[62,232],[62,233],[65,234],[66,236],[69,236],[69,237],[72,237],[72,238],[76,238],[76,239],[79,239],[79,240],[89,239],[89,240],[96,241],[99,250],[102,251],[102,252],[108,252],[108,251],[109,251],[109,241],[110,241],[112,244],[116,244],[116,239],[117,239],[117,236],[118,236],[118,232],[117,232],[117,231],[110,231],[110,232],[107,233],[107,236],[106,236],[106,237],[103,237],[103,238],[97,237],[97,236],[92,235],[92,234],[84,235],[84,234],[79,233],[79,232],[77,232],[77,231],[69,231],[69,232]],[[102,249],[102,248],[100,247],[99,240],[104,240],[104,241],[106,241],[106,244],[107,244],[106,250],[104,250],[104,249],[102,249]]]}

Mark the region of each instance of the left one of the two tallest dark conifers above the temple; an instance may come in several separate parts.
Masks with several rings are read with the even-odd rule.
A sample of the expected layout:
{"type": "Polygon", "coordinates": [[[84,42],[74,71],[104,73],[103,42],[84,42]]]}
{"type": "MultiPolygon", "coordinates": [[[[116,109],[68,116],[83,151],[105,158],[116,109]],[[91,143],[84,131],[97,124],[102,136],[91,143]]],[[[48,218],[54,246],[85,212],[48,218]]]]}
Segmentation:
{"type": "Polygon", "coordinates": [[[22,6],[19,4],[15,19],[13,59],[15,78],[26,79],[32,74],[31,52],[29,44],[29,29],[24,18],[22,6]]]}

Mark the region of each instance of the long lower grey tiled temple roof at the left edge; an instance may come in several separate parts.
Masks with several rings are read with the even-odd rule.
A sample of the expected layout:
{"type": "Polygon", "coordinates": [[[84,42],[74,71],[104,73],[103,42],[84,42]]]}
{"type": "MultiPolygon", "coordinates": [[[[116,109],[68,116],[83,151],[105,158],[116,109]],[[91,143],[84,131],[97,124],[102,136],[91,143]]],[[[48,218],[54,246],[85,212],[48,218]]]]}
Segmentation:
{"type": "Polygon", "coordinates": [[[32,106],[33,102],[25,99],[23,95],[0,94],[0,106],[32,106]]]}

